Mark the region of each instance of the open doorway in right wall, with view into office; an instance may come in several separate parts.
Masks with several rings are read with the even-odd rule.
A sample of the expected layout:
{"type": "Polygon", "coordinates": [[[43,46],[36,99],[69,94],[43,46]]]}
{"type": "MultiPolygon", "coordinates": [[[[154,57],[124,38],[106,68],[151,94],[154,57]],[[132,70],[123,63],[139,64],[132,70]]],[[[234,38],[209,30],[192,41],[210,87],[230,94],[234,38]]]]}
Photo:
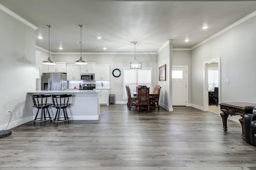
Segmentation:
{"type": "MultiPolygon", "coordinates": [[[[204,62],[204,74],[203,74],[204,76],[204,111],[209,111],[209,89],[212,88],[212,84],[209,85],[209,82],[208,82],[208,71],[209,69],[211,70],[212,68],[214,68],[215,70],[218,69],[218,103],[220,103],[220,57],[218,57],[218,58],[211,59],[209,61],[204,62]],[[215,66],[212,66],[212,65],[215,65],[215,66]]],[[[217,109],[212,107],[210,107],[210,109],[212,109],[212,113],[220,114],[219,105],[217,109]]]]}

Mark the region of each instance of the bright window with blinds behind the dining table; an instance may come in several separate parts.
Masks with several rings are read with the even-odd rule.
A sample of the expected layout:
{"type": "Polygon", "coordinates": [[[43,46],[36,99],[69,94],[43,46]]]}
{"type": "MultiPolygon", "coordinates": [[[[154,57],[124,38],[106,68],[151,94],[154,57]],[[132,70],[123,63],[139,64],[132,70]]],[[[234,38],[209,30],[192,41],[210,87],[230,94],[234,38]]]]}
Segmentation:
{"type": "Polygon", "coordinates": [[[130,87],[131,92],[136,93],[138,85],[146,85],[151,87],[152,68],[145,68],[140,70],[124,69],[124,98],[127,99],[127,92],[125,86],[130,87]]]}

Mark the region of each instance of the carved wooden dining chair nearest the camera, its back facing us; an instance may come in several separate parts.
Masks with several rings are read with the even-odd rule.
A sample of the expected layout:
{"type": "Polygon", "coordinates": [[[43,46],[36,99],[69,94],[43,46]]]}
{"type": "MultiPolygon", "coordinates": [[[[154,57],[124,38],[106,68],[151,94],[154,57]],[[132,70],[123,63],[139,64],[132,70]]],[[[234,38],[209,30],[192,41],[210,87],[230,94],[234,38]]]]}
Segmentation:
{"type": "Polygon", "coordinates": [[[137,111],[140,109],[147,109],[149,113],[149,87],[141,86],[138,88],[138,100],[136,100],[137,111]]]}

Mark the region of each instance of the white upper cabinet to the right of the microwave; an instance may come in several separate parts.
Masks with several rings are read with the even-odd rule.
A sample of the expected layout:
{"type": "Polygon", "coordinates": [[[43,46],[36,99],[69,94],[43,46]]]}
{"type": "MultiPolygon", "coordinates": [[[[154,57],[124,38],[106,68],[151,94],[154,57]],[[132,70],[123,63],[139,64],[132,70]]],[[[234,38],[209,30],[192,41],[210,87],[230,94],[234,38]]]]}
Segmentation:
{"type": "Polygon", "coordinates": [[[95,81],[109,81],[109,65],[95,65],[95,81]]]}

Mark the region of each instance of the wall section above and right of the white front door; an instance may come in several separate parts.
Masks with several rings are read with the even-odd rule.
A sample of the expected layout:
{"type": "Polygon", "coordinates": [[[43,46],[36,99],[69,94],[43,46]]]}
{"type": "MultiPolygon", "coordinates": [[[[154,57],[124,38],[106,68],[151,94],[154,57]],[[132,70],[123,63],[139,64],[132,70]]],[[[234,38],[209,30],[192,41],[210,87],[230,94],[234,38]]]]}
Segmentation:
{"type": "Polygon", "coordinates": [[[191,103],[191,51],[173,50],[172,65],[188,65],[188,104],[191,103]]]}

